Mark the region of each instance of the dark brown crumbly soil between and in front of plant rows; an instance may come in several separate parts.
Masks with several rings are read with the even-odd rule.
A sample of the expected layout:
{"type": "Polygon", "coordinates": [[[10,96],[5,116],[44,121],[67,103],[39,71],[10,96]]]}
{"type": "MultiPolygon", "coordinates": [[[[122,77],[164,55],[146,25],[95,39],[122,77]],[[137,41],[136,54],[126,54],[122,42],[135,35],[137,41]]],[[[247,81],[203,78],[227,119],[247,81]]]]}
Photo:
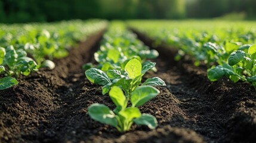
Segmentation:
{"type": "MultiPolygon", "coordinates": [[[[146,45],[152,40],[137,33],[146,45]]],[[[205,67],[173,59],[174,49],[156,47],[158,72],[167,86],[140,107],[156,117],[150,130],[133,125],[119,133],[96,122],[87,108],[100,103],[115,108],[101,88],[90,83],[81,69],[93,60],[103,32],[73,48],[68,57],[55,60],[54,70],[42,69],[21,77],[17,86],[0,92],[0,142],[255,142],[256,92],[248,83],[227,79],[209,82],[205,67]],[[170,51],[171,50],[171,51],[170,51]],[[163,52],[164,51],[164,52],[163,52]]]]}

